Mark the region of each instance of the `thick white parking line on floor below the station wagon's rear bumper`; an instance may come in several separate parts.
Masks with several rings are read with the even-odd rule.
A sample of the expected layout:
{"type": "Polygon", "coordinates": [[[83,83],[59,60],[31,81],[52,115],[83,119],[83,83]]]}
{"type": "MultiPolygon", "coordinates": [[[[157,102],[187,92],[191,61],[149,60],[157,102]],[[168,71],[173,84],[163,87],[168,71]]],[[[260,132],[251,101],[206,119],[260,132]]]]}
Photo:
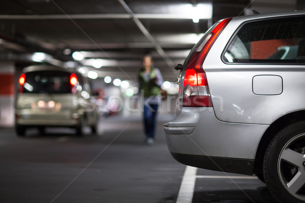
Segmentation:
{"type": "Polygon", "coordinates": [[[197,168],[188,166],[182,178],[176,203],[191,203],[193,200],[197,168]]]}

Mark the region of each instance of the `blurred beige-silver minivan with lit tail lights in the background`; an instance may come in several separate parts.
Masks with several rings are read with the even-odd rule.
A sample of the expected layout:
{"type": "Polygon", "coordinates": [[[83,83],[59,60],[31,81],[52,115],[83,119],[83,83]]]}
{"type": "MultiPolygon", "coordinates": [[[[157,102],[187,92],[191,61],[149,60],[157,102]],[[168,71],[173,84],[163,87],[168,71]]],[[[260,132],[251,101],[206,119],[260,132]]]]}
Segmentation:
{"type": "Polygon", "coordinates": [[[19,78],[15,104],[15,127],[25,136],[29,127],[72,127],[81,135],[84,126],[96,132],[98,112],[90,103],[85,77],[53,65],[25,67],[19,78]]]}

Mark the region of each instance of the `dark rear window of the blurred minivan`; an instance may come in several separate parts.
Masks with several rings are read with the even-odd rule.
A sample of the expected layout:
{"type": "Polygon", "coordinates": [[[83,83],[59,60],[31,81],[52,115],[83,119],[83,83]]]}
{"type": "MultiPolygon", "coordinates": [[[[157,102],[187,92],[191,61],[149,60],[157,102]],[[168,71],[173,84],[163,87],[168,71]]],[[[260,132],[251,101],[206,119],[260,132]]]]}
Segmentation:
{"type": "Polygon", "coordinates": [[[70,73],[35,71],[25,74],[24,93],[71,93],[70,73]]]}

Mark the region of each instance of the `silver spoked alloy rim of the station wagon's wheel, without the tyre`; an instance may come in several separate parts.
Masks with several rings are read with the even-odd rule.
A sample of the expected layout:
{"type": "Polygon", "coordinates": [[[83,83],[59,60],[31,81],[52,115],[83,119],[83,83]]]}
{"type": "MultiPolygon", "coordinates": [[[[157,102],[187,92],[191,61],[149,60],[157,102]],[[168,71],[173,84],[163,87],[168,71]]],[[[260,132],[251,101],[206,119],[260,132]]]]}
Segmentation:
{"type": "Polygon", "coordinates": [[[291,138],[278,159],[278,175],[285,189],[295,198],[305,201],[305,133],[291,138]]]}

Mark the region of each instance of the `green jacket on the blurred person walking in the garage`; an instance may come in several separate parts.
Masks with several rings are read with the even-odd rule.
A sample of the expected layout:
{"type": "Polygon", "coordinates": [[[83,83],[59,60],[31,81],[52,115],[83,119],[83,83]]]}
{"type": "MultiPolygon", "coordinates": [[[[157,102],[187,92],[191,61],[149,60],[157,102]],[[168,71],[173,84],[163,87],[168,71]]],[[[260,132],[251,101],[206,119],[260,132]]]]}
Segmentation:
{"type": "Polygon", "coordinates": [[[144,91],[144,97],[157,96],[160,91],[160,86],[156,84],[157,74],[155,68],[151,66],[149,73],[149,80],[145,80],[144,71],[141,69],[139,72],[140,89],[144,91]]]}

